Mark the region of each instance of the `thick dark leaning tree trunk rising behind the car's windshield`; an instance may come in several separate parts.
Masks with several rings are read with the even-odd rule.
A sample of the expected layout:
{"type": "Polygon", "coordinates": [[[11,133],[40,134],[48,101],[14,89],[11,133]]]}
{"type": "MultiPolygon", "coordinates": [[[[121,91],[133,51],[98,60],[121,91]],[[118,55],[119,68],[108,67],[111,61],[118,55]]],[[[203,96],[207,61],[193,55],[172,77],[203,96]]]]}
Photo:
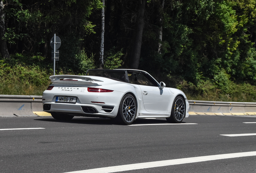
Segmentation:
{"type": "Polygon", "coordinates": [[[140,11],[137,18],[137,26],[136,26],[136,34],[133,45],[132,58],[130,61],[130,68],[138,69],[140,62],[140,50],[142,44],[142,33],[144,28],[144,12],[145,12],[145,4],[146,0],[139,0],[141,2],[140,11]]]}

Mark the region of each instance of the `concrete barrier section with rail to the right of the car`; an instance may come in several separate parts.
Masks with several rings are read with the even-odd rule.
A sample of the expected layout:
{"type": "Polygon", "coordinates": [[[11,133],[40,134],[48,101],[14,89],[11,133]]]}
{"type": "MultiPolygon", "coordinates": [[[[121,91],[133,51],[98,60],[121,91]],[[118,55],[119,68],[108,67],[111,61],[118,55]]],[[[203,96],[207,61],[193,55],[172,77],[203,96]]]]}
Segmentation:
{"type": "Polygon", "coordinates": [[[190,115],[256,115],[256,103],[189,100],[190,115]]]}

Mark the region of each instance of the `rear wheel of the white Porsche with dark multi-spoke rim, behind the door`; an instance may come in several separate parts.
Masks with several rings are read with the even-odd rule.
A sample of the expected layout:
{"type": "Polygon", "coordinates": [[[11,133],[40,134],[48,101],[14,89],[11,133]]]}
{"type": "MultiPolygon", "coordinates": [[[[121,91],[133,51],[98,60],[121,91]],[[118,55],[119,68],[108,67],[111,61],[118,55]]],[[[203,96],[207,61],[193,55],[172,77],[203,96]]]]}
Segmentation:
{"type": "Polygon", "coordinates": [[[131,125],[137,113],[136,100],[131,94],[125,95],[119,105],[118,115],[114,122],[122,125],[131,125]]]}

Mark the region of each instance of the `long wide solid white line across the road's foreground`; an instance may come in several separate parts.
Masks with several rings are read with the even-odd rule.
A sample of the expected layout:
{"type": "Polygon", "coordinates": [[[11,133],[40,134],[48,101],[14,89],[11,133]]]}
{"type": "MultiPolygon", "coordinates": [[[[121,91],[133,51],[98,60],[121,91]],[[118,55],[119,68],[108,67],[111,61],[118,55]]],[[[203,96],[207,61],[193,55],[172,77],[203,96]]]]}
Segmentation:
{"type": "Polygon", "coordinates": [[[184,159],[173,159],[173,160],[165,160],[165,161],[146,162],[146,163],[135,163],[130,165],[87,169],[83,171],[74,171],[74,172],[67,172],[67,173],[113,173],[113,172],[130,171],[130,170],[136,170],[136,169],[146,169],[146,168],[153,168],[153,167],[163,167],[163,166],[170,166],[170,165],[180,165],[185,163],[196,163],[196,162],[202,162],[202,161],[213,161],[213,160],[231,159],[231,158],[248,157],[248,156],[256,156],[256,151],[244,152],[244,153],[221,154],[221,155],[209,155],[209,156],[201,156],[201,157],[189,157],[184,159]]]}

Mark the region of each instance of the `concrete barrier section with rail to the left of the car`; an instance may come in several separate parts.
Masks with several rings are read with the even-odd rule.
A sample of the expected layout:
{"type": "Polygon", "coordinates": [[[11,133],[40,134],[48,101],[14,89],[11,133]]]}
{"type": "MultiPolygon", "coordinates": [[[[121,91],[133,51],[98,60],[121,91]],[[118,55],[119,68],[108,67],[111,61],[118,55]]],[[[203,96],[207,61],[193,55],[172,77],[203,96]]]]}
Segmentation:
{"type": "Polygon", "coordinates": [[[43,112],[42,96],[0,95],[0,117],[50,116],[43,112]]]}

